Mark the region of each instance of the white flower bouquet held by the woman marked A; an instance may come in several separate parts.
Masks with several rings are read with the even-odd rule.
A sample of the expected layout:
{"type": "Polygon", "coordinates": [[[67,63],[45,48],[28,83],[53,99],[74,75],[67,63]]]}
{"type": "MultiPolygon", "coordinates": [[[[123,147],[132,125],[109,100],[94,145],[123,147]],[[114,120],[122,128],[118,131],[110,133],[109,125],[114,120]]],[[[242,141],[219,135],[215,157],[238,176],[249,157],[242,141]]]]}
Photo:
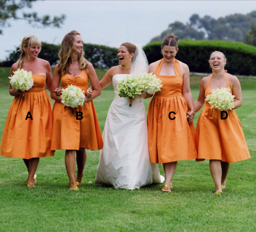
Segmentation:
{"type": "MultiPolygon", "coordinates": [[[[19,89],[22,92],[25,90],[29,90],[34,85],[34,80],[32,78],[32,72],[27,72],[26,70],[17,69],[15,72],[13,72],[13,75],[11,77],[8,77],[10,79],[10,84],[12,88],[19,89]]],[[[25,100],[24,95],[22,95],[22,98],[25,100]]]]}

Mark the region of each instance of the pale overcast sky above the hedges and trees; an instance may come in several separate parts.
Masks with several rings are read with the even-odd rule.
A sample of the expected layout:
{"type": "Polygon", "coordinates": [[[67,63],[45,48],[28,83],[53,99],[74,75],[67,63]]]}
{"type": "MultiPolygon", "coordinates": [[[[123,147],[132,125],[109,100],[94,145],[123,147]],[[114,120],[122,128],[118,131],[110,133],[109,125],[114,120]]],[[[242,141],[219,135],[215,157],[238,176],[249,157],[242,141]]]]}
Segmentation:
{"type": "MultiPolygon", "coordinates": [[[[0,60],[18,47],[24,36],[33,34],[41,41],[60,44],[65,34],[78,30],[84,43],[118,48],[123,42],[146,45],[168,25],[189,22],[193,14],[215,19],[230,14],[247,14],[256,10],[255,0],[45,0],[33,3],[40,16],[66,15],[61,28],[34,28],[24,21],[10,21],[0,35],[0,60]]],[[[178,35],[177,35],[178,36],[178,35]]]]}

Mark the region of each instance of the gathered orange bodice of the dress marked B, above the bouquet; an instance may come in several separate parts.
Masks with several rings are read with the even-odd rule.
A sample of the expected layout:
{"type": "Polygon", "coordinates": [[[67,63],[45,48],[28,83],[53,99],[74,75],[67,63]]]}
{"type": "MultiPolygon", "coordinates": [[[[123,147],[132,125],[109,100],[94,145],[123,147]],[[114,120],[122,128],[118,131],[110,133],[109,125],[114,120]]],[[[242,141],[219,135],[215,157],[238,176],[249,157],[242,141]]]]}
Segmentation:
{"type": "Polygon", "coordinates": [[[86,70],[83,69],[81,73],[75,77],[72,77],[69,73],[61,76],[61,87],[67,88],[68,85],[75,85],[86,91],[86,89],[88,89],[88,75],[86,70]]]}

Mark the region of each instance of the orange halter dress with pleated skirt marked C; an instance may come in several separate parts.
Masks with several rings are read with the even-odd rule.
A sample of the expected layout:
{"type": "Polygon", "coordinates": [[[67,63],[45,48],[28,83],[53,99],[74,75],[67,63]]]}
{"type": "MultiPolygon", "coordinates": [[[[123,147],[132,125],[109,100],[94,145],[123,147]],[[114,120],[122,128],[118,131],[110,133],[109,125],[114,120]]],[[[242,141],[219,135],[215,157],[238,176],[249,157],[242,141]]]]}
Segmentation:
{"type": "Polygon", "coordinates": [[[162,80],[161,91],[153,96],[148,109],[149,153],[152,163],[169,163],[197,158],[194,124],[189,125],[187,102],[182,95],[183,77],[175,59],[175,76],[159,76],[163,59],[155,69],[162,80]],[[169,113],[173,111],[176,114],[169,113]]]}

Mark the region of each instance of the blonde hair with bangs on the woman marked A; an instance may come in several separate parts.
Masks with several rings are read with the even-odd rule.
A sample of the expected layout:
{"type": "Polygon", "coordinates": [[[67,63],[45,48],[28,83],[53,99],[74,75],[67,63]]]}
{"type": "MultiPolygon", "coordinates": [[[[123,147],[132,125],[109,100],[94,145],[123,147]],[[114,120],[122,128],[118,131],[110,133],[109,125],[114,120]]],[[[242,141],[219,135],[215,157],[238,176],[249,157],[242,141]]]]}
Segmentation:
{"type": "MultiPolygon", "coordinates": [[[[21,45],[20,45],[20,49],[19,51],[21,52],[20,54],[20,58],[19,60],[17,61],[18,62],[18,67],[17,69],[19,68],[22,68],[22,65],[24,64],[24,59],[25,59],[25,55],[26,55],[26,52],[27,52],[27,55],[28,55],[28,49],[31,47],[31,46],[34,46],[34,45],[39,45],[41,47],[41,41],[34,35],[28,35],[28,36],[25,36],[21,42],[21,45]],[[23,50],[23,46],[26,47],[26,52],[23,50]]],[[[41,51],[41,48],[40,48],[40,51],[41,51]]],[[[39,51],[39,52],[40,52],[39,51]]],[[[38,53],[39,53],[38,52],[38,53]]],[[[28,55],[28,59],[30,58],[30,56],[28,55]]]]}

